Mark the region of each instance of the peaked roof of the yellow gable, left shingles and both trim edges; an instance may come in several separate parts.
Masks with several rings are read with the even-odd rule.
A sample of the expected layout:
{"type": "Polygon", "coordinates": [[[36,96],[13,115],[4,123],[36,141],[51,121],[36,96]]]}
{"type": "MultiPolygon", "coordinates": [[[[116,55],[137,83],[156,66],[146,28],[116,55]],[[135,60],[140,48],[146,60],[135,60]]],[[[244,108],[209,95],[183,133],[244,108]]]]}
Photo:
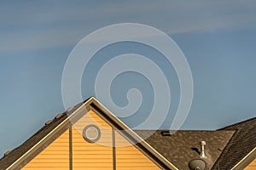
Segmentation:
{"type": "Polygon", "coordinates": [[[164,156],[161,156],[153,147],[141,139],[137,133],[134,133],[134,131],[121,122],[95,98],[91,97],[83,103],[68,109],[61,115],[55,116],[54,120],[46,122],[44,127],[30,139],[27,139],[26,142],[14,150],[9,151],[8,154],[0,159],[0,170],[20,169],[24,167],[34,156],[37,156],[38,153],[71,127],[73,122],[78,121],[79,118],[90,110],[95,111],[98,116],[101,116],[102,119],[108,122],[114,129],[119,130],[118,132],[123,135],[125,139],[134,144],[143,154],[149,156],[159,167],[163,169],[177,169],[170,161],[167,161],[164,156]]]}

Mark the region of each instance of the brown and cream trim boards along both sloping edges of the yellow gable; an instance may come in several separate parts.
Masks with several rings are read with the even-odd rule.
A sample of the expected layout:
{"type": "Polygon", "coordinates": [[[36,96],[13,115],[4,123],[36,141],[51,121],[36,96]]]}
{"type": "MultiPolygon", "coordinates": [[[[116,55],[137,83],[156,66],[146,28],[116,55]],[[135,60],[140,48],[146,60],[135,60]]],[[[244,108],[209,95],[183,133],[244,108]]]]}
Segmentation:
{"type": "Polygon", "coordinates": [[[45,144],[49,143],[48,140],[51,137],[53,137],[56,133],[60,133],[62,128],[68,127],[70,125],[72,126],[71,120],[74,120],[76,122],[77,120],[79,120],[79,116],[83,116],[92,108],[99,110],[100,113],[102,113],[102,116],[105,116],[107,119],[112,120],[114,124],[112,122],[108,122],[111,123],[111,126],[115,127],[116,129],[124,130],[122,131],[123,133],[121,133],[121,135],[123,135],[126,139],[129,138],[129,141],[135,142],[132,144],[134,144],[137,149],[141,150],[146,156],[148,156],[149,159],[154,161],[154,163],[156,163],[158,166],[177,170],[177,167],[175,167],[172,162],[166,160],[164,156],[161,156],[158,151],[154,150],[154,148],[152,148],[146,141],[138,136],[137,133],[135,133],[130,127],[125,125],[124,122],[121,122],[119,118],[117,116],[114,116],[111,111],[108,111],[108,109],[104,105],[102,105],[95,97],[90,97],[89,99],[86,99],[75,110],[67,110],[67,117],[62,122],[60,122],[60,124],[58,124],[51,131],[49,131],[49,133],[47,133],[42,139],[40,139],[38,143],[32,145],[29,150],[26,150],[26,152],[22,156],[20,156],[14,162],[10,163],[9,167],[7,167],[6,170],[13,170],[25,166],[27,161],[30,161],[32,157],[36,156],[37,153],[40,152],[40,148],[42,149],[42,147],[47,147],[45,146],[45,144]]]}

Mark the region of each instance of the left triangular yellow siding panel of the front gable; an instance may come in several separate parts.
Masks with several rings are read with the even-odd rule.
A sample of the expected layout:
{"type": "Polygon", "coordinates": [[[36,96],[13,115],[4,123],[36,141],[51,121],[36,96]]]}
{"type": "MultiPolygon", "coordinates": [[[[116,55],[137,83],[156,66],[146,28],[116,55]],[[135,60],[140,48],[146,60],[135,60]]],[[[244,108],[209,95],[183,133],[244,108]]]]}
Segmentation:
{"type": "Polygon", "coordinates": [[[44,149],[22,170],[65,170],[69,169],[69,133],[68,130],[44,149]]]}

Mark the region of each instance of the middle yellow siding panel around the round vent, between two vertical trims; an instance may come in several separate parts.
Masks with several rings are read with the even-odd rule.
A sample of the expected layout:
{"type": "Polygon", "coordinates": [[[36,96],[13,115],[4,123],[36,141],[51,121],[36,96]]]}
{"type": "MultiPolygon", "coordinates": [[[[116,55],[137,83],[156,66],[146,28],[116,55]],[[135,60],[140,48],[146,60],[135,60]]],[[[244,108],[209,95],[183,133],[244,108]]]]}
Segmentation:
{"type": "Polygon", "coordinates": [[[113,169],[112,127],[93,111],[89,111],[72,128],[73,169],[113,169]],[[83,138],[83,129],[95,124],[101,130],[101,138],[89,143],[83,138]]]}

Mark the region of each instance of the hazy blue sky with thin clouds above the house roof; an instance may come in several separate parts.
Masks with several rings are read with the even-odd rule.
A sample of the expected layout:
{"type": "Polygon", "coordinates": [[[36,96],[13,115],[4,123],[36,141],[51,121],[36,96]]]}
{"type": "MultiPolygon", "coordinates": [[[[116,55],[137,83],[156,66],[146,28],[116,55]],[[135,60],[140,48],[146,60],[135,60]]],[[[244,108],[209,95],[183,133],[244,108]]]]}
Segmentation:
{"type": "MultiPolygon", "coordinates": [[[[0,155],[65,111],[61,76],[68,55],[90,32],[117,23],[154,26],[182,49],[194,80],[193,104],[183,129],[216,129],[255,116],[255,8],[253,1],[2,2],[0,155]]],[[[84,71],[84,99],[94,95],[96,68],[119,54],[120,49],[122,53],[133,50],[149,58],[158,56],[135,43],[102,49],[84,71]],[[108,57],[103,59],[103,55],[108,57]]],[[[177,108],[177,77],[164,60],[154,59],[172,83],[172,111],[162,125],[168,128],[177,108]]],[[[134,73],[117,77],[113,83],[113,100],[118,105],[125,105],[123,97],[129,88],[137,87],[146,95],[140,113],[123,119],[131,127],[147,117],[148,105],[153,102],[150,84],[144,83],[148,84],[147,80],[134,73]]]]}

